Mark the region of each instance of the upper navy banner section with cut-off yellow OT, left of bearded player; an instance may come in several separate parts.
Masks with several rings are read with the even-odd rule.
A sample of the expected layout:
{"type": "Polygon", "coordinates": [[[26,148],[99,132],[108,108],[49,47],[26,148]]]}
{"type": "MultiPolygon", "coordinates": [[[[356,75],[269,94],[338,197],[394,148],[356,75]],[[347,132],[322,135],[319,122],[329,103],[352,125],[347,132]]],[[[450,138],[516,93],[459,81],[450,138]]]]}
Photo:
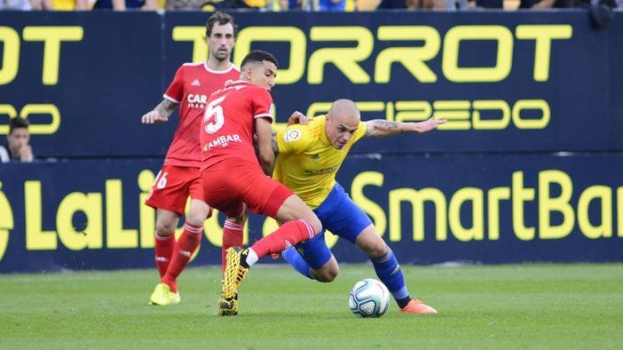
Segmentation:
{"type": "Polygon", "coordinates": [[[165,152],[175,125],[162,137],[138,123],[146,91],[163,84],[160,15],[0,12],[0,23],[0,133],[20,115],[32,123],[36,155],[165,152]]]}

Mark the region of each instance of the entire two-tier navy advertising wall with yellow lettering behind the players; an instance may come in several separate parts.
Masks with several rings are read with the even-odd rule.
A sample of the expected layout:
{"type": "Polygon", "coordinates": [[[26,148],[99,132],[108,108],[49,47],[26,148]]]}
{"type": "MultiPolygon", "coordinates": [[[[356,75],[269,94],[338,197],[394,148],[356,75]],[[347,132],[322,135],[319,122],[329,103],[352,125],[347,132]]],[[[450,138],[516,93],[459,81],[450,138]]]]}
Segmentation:
{"type": "MultiPolygon", "coordinates": [[[[586,12],[238,13],[234,51],[280,60],[277,120],[337,98],[364,120],[450,123],[366,139],[338,180],[403,263],[620,261],[623,17],[586,12]]],[[[0,272],[153,266],[142,203],[176,123],[146,126],[197,12],[0,12],[0,133],[31,121],[41,161],[0,165],[0,272]]],[[[194,265],[220,262],[222,217],[194,265]]],[[[247,241],[270,232],[250,219],[247,241]]],[[[366,258],[329,236],[342,262],[366,258]]]]}

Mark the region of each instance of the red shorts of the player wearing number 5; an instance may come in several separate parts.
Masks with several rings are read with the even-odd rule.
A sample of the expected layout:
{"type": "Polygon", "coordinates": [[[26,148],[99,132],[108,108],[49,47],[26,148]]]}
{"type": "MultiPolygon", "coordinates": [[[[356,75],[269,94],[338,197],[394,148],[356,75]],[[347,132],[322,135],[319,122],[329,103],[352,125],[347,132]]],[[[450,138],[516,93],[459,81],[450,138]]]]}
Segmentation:
{"type": "Polygon", "coordinates": [[[294,193],[264,174],[259,164],[242,159],[228,159],[201,172],[204,200],[227,216],[239,215],[243,203],[250,211],[274,218],[294,193]]]}

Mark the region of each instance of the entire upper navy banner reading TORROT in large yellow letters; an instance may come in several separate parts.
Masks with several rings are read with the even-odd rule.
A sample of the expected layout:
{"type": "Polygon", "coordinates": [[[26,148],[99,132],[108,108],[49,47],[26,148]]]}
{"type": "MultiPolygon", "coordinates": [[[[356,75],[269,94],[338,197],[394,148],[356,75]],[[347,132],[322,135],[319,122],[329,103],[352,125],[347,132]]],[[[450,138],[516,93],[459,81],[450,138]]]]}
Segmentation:
{"type": "MultiPolygon", "coordinates": [[[[364,119],[449,120],[426,139],[357,152],[623,149],[620,12],[601,30],[579,11],[235,16],[236,63],[256,48],[280,60],[278,122],[294,110],[321,114],[338,98],[359,102],[364,119]]],[[[0,12],[0,133],[22,115],[39,155],[162,156],[174,123],[146,127],[140,116],[177,67],[205,58],[207,17],[0,12]]]]}

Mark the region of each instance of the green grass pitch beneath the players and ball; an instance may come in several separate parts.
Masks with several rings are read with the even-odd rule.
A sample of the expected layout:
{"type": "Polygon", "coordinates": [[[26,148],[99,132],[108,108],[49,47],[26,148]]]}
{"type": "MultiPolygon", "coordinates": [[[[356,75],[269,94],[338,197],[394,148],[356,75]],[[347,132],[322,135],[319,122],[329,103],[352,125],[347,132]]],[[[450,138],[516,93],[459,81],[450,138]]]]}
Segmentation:
{"type": "Polygon", "coordinates": [[[288,266],[258,266],[241,310],[218,317],[217,268],[189,268],[182,304],[148,306],[154,270],[0,275],[0,348],[603,349],[623,348],[623,265],[403,266],[409,290],[439,314],[356,318],[351,286],[288,266]]]}

